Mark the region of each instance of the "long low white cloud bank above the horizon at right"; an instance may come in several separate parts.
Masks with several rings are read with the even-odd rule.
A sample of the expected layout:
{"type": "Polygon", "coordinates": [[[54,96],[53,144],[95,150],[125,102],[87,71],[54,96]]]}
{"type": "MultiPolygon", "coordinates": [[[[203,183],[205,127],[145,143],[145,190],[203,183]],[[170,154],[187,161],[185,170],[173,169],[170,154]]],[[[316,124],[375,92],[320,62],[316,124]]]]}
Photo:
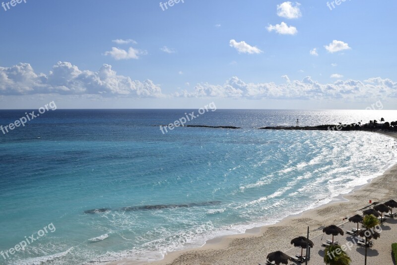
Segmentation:
{"type": "Polygon", "coordinates": [[[180,97],[231,97],[248,99],[373,99],[397,97],[397,82],[389,79],[373,78],[366,81],[338,80],[332,84],[322,84],[311,77],[303,80],[286,80],[285,84],[245,83],[232,77],[223,85],[198,84],[193,91],[182,90],[175,93],[180,97]],[[289,80],[289,82],[288,82],[289,80]]]}

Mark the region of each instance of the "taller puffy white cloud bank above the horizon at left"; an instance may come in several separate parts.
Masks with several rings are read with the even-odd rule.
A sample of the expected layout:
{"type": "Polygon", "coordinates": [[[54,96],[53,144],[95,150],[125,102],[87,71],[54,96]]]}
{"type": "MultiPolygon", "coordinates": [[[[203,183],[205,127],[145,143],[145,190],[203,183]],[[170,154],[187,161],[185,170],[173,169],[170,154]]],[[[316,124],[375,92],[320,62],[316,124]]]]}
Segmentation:
{"type": "Polygon", "coordinates": [[[143,83],[117,75],[104,64],[99,71],[81,71],[69,62],[58,62],[48,75],[36,74],[30,64],[0,67],[0,94],[95,94],[102,96],[163,97],[150,80],[143,83]]]}

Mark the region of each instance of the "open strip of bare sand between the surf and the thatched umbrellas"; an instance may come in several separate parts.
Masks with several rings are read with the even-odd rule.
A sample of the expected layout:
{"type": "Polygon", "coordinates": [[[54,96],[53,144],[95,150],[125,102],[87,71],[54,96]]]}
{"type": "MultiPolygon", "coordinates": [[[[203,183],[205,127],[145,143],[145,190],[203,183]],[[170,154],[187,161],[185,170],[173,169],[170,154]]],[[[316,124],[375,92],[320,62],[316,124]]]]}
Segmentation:
{"type": "MultiPolygon", "coordinates": [[[[397,133],[376,132],[397,139],[397,133]]],[[[302,213],[289,215],[275,224],[247,229],[242,234],[218,236],[206,241],[201,247],[171,252],[158,261],[137,262],[132,261],[132,259],[123,259],[106,264],[258,264],[265,261],[266,255],[270,252],[277,250],[287,252],[294,249],[289,244],[289,240],[293,237],[305,236],[307,226],[310,226],[309,238],[312,239],[323,235],[322,228],[326,225],[335,224],[339,226],[348,222],[345,218],[358,213],[358,209],[370,205],[369,200],[382,203],[389,199],[397,199],[397,163],[386,169],[383,174],[369,180],[368,183],[355,186],[349,193],[341,194],[332,198],[326,204],[305,210],[302,213]],[[395,184],[385,184],[386,181],[383,181],[385,179],[388,180],[387,182],[395,181],[395,184]],[[288,235],[287,239],[285,238],[286,235],[288,235]]],[[[389,255],[389,253],[385,254],[389,255]]],[[[317,253],[312,255],[317,256],[317,253]]]]}

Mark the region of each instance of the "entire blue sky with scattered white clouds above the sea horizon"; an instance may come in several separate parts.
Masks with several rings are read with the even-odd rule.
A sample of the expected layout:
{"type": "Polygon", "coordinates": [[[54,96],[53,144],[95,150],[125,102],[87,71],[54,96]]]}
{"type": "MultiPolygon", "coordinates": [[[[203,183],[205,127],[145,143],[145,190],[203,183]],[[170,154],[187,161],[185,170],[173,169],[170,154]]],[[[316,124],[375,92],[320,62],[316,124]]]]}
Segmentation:
{"type": "Polygon", "coordinates": [[[395,0],[18,2],[0,109],[396,109],[395,0]]]}

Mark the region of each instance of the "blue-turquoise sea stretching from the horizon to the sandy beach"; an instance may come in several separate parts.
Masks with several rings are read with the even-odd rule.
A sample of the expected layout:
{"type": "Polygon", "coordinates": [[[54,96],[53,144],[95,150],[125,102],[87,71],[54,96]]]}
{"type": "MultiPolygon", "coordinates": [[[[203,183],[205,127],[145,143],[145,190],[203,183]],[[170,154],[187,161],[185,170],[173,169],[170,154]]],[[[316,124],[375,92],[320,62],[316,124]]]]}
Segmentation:
{"type": "MultiPolygon", "coordinates": [[[[243,128],[163,135],[153,126],[184,112],[57,110],[1,135],[0,251],[55,229],[0,264],[160,259],[325,204],[397,158],[395,140],[380,134],[256,129],[296,117],[391,121],[397,111],[216,110],[191,124],[243,128]]],[[[21,113],[0,111],[0,124],[21,113]]]]}

